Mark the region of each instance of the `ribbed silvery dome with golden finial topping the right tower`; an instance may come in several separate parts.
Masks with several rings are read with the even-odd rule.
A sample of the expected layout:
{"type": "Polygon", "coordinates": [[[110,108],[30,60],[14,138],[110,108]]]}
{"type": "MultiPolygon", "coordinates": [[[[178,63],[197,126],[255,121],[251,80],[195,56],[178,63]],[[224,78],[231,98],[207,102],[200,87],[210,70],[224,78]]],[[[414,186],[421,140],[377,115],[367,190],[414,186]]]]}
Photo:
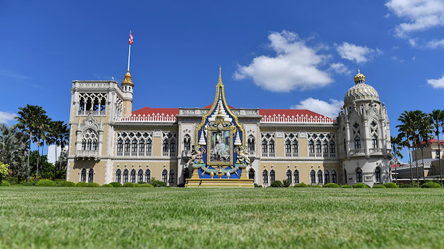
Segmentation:
{"type": "Polygon", "coordinates": [[[375,101],[379,102],[379,95],[375,88],[367,85],[366,76],[361,74],[358,69],[358,74],[355,76],[355,85],[348,89],[344,97],[344,105],[352,103],[353,101],[375,101]]]}

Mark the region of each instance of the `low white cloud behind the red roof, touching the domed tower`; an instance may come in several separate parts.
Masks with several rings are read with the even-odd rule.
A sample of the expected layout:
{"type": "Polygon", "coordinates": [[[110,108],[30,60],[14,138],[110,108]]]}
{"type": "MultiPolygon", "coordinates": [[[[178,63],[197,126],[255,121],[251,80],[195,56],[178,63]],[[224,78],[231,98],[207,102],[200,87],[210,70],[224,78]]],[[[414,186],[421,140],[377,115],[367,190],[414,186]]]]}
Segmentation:
{"type": "Polygon", "coordinates": [[[310,97],[300,101],[298,105],[291,106],[290,109],[307,109],[327,117],[335,118],[338,116],[339,110],[341,110],[341,106],[344,105],[344,102],[337,101],[333,98],[330,98],[329,101],[330,103],[327,103],[310,97]]]}

